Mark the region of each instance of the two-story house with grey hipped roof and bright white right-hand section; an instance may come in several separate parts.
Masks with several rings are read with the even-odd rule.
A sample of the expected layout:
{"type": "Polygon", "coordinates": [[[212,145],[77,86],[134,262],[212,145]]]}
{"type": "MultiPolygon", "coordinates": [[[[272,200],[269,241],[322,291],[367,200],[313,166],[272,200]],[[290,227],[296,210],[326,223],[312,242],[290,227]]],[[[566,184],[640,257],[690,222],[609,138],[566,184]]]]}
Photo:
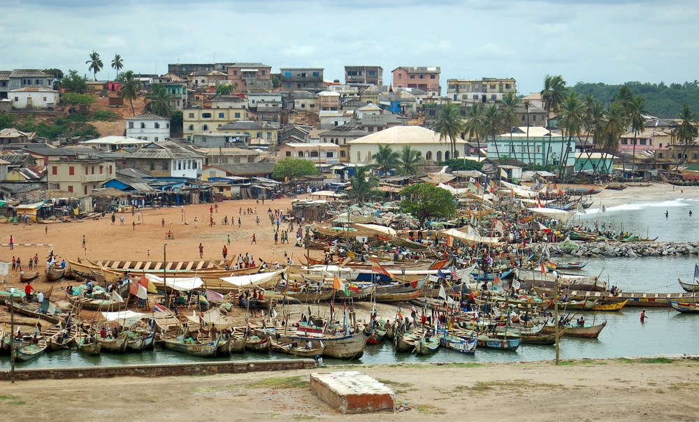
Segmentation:
{"type": "Polygon", "coordinates": [[[171,140],[145,145],[125,158],[126,168],[138,168],[154,177],[187,177],[201,174],[203,157],[171,140]]]}

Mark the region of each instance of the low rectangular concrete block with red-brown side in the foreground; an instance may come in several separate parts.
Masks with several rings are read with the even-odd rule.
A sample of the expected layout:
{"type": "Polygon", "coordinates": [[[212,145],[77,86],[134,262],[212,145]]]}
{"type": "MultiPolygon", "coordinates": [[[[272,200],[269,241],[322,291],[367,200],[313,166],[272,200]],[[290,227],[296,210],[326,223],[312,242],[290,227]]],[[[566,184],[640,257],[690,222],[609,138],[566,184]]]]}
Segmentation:
{"type": "Polygon", "coordinates": [[[381,382],[356,371],[310,374],[310,389],[343,414],[394,412],[396,394],[381,382]]]}

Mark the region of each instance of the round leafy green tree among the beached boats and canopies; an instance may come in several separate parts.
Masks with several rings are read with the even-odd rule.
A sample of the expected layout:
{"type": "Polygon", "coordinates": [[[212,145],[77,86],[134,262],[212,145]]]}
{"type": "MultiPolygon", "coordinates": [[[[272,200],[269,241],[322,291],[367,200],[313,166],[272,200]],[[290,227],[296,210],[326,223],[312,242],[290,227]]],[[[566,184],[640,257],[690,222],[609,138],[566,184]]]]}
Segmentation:
{"type": "Polygon", "coordinates": [[[447,189],[429,183],[415,183],[400,192],[401,211],[410,212],[420,225],[430,217],[452,218],[456,214],[454,196],[447,189]]]}

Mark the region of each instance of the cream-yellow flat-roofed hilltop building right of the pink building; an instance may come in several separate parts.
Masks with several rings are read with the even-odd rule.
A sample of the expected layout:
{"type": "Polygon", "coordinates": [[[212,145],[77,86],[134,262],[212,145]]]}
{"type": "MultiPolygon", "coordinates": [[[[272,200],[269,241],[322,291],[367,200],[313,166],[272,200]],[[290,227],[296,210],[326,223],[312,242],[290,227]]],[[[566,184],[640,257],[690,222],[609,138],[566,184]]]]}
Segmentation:
{"type": "Polygon", "coordinates": [[[447,96],[452,101],[499,103],[507,92],[517,94],[514,78],[447,79],[447,96]]]}

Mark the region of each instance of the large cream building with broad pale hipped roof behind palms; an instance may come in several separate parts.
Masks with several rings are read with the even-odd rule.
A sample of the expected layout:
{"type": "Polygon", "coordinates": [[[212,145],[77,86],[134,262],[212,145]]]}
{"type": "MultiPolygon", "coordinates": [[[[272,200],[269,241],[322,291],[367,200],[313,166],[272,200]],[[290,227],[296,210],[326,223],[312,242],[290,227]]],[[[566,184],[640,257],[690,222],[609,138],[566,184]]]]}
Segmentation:
{"type": "MultiPolygon", "coordinates": [[[[379,145],[389,145],[400,152],[404,145],[419,152],[426,161],[443,161],[452,158],[449,140],[440,141],[439,133],[421,126],[394,126],[347,142],[349,159],[352,163],[372,163],[379,145]]],[[[456,157],[468,155],[468,143],[456,139],[456,157]]]]}

